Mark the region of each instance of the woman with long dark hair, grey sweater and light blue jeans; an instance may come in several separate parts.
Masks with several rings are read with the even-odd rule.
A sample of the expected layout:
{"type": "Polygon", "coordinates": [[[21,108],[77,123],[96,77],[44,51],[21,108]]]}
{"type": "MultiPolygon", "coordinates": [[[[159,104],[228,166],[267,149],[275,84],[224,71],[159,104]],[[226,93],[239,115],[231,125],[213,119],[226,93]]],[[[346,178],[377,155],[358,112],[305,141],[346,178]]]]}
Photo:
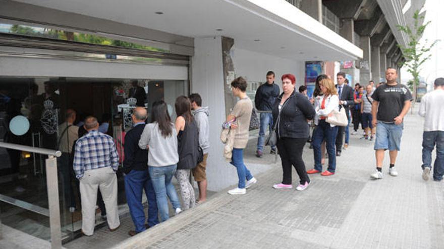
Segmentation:
{"type": "Polygon", "coordinates": [[[156,193],[157,208],[162,221],[170,218],[167,195],[176,214],[182,212],[179,197],[171,180],[176,173],[177,153],[176,127],[171,122],[167,104],[156,101],[151,109],[151,123],[145,125],[139,147],[148,149],[148,171],[156,193]]]}

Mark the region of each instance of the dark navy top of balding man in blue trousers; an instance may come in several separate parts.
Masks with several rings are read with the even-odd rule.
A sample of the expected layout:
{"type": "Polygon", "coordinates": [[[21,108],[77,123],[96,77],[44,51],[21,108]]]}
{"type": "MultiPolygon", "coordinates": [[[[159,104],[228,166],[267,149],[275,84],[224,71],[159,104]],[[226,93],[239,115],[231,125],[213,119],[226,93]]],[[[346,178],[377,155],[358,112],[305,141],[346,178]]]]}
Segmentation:
{"type": "Polygon", "coordinates": [[[131,170],[144,171],[148,169],[148,151],[139,147],[143,128],[145,128],[143,124],[136,125],[125,135],[125,159],[122,169],[125,174],[130,173],[131,170]]]}

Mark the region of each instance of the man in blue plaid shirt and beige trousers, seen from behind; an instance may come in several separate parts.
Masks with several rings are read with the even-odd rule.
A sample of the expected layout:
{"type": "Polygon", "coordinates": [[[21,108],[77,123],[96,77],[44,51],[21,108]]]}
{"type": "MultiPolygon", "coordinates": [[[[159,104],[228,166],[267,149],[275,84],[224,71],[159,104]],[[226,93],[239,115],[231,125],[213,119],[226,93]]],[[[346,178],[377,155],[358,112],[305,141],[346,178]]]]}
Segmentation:
{"type": "Polygon", "coordinates": [[[91,236],[94,232],[97,189],[103,196],[111,231],[120,226],[117,209],[117,176],[119,155],[112,137],[98,131],[95,117],[85,119],[86,135],[76,142],[74,172],[80,181],[82,200],[82,233],[91,236]]]}

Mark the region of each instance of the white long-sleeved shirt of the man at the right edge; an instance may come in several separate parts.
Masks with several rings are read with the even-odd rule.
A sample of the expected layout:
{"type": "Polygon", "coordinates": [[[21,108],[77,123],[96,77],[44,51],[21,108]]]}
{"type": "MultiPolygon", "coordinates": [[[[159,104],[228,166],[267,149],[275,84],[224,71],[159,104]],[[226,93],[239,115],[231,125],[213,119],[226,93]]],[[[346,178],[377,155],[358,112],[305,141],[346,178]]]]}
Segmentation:
{"type": "Polygon", "coordinates": [[[421,98],[419,115],[425,117],[424,131],[444,131],[444,90],[436,89],[421,98]]]}

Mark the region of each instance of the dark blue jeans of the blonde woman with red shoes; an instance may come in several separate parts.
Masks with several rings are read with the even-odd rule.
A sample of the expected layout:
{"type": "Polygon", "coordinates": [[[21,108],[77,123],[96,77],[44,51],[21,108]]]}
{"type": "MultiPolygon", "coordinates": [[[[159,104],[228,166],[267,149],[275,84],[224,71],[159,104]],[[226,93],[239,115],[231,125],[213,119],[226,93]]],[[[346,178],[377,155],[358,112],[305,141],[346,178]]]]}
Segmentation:
{"type": "Polygon", "coordinates": [[[319,123],[313,132],[313,155],[314,155],[314,169],[322,171],[321,164],[321,144],[325,140],[328,153],[328,169],[327,171],[335,173],[336,171],[336,136],[338,135],[338,126],[331,127],[325,120],[320,119],[319,123]]]}

